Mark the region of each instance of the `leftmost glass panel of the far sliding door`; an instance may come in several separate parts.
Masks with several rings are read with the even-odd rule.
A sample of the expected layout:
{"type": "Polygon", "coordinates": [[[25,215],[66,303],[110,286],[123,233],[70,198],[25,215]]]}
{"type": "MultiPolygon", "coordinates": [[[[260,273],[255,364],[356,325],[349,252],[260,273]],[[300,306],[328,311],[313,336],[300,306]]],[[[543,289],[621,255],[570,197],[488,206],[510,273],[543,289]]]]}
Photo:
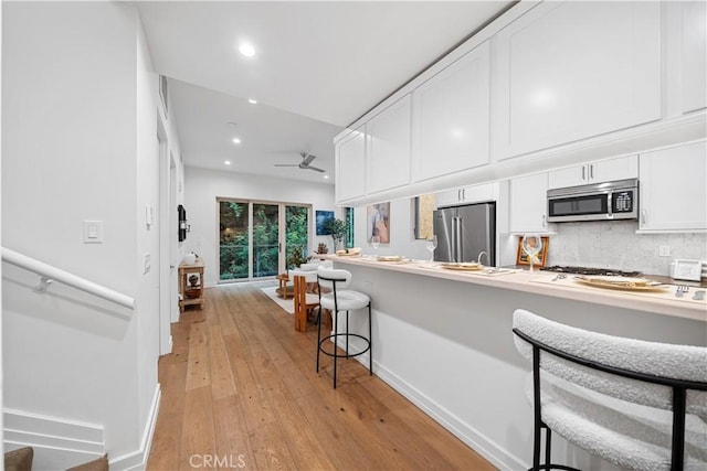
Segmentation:
{"type": "Polygon", "coordinates": [[[249,278],[249,204],[219,202],[219,279],[249,278]]]}

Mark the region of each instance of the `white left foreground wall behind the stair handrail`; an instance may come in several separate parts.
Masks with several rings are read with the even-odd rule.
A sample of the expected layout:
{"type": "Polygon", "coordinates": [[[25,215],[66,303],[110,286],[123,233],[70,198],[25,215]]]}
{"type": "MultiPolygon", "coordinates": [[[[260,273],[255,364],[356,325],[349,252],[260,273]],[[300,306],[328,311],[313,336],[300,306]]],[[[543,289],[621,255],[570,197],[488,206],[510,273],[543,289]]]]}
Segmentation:
{"type": "MultiPolygon", "coordinates": [[[[2,7],[3,245],[137,301],[38,296],[36,276],[3,265],[3,405],[95,426],[112,461],[139,464],[158,390],[157,270],[141,264],[157,242],[157,89],[139,18],[115,2],[2,7]],[[84,220],[103,221],[102,244],[83,243],[84,220]]],[[[35,469],[72,460],[44,451],[35,469]]]]}

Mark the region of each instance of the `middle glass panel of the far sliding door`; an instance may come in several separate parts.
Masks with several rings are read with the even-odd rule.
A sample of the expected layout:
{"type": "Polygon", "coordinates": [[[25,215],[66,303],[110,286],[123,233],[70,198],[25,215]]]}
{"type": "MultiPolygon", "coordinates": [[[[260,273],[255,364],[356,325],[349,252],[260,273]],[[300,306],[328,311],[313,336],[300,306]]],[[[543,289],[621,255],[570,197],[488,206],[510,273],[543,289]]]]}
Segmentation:
{"type": "Polygon", "coordinates": [[[253,203],[253,278],[274,277],[278,270],[279,205],[253,203]]]}

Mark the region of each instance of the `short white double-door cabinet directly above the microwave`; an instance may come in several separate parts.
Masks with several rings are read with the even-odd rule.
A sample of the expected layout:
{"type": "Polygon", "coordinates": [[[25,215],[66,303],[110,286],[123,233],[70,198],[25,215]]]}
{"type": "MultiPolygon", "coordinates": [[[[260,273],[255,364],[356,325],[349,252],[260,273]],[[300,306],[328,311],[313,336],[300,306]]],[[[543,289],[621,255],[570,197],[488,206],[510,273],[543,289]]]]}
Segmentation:
{"type": "Polygon", "coordinates": [[[613,180],[635,179],[639,176],[639,156],[600,160],[583,165],[551,170],[548,188],[584,185],[588,183],[610,182],[613,180]]]}

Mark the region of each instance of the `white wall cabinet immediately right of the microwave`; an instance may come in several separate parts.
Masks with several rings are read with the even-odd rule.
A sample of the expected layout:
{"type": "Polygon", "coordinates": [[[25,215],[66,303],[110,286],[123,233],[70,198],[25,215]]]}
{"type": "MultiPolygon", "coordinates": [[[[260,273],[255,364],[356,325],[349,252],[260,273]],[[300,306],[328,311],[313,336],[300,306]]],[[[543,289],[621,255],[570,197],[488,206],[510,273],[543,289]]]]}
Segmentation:
{"type": "Polygon", "coordinates": [[[640,232],[707,231],[707,142],[641,154],[640,232]]]}

